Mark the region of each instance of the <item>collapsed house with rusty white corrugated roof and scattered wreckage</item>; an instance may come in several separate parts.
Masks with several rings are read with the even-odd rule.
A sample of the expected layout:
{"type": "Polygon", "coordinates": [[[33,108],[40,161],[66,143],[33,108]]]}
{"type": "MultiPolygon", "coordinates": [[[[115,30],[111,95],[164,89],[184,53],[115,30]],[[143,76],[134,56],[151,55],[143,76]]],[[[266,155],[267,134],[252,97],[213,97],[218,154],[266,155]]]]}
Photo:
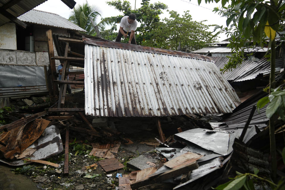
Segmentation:
{"type": "MultiPolygon", "coordinates": [[[[158,188],[158,186],[161,186],[160,189],[179,189],[186,185],[207,189],[227,176],[222,175],[222,171],[219,170],[227,163],[226,171],[228,173],[238,170],[237,168],[241,169],[238,171],[253,171],[254,166],[259,163],[252,162],[249,156],[262,158],[260,162],[264,163],[265,176],[269,176],[270,172],[267,169],[268,162],[264,158],[265,156],[259,151],[248,148],[249,144],[257,137],[265,137],[268,132],[266,128],[268,119],[265,117],[266,107],[260,110],[261,115],[251,109],[256,104],[257,97],[262,97],[264,94],[240,104],[235,90],[227,78],[220,73],[212,58],[173,50],[111,42],[87,35],[82,36],[79,33],[75,33],[73,37],[66,37],[49,30],[46,34],[49,56],[47,86],[50,98],[55,104],[47,111],[30,115],[6,126],[0,126],[0,130],[10,131],[11,134],[16,134],[16,131],[28,134],[29,131],[27,129],[24,131],[23,127],[27,122],[39,117],[50,119],[51,122],[35,120],[32,125],[39,127],[41,131],[48,129],[47,135],[55,135],[50,138],[50,141],[56,138],[59,143],[53,148],[48,147],[48,149],[54,150],[52,154],[56,154],[63,150],[63,145],[59,132],[52,124],[57,119],[71,120],[73,115],[80,116],[89,129],[72,126],[69,122],[65,124],[64,174],[69,173],[70,131],[111,141],[110,133],[113,135],[118,133],[110,127],[107,122],[108,118],[120,117],[124,122],[126,118],[153,117],[156,118],[159,142],[169,146],[156,148],[156,150],[161,152],[168,162],[165,162],[164,166],[159,169],[147,164],[146,170],[139,168],[141,171],[132,172],[129,176],[119,178],[120,189],[147,189],[158,188]],[[65,63],[62,80],[57,80],[57,60],[65,63]],[[84,72],[83,70],[69,72],[69,67],[72,66],[84,68],[84,72]],[[84,81],[74,80],[74,78],[70,80],[70,77],[67,80],[67,75],[77,74],[84,74],[84,81]],[[59,89],[58,84],[61,84],[59,89]],[[67,84],[84,85],[84,94],[66,94],[67,84]],[[82,112],[85,112],[87,116],[82,112]],[[253,117],[249,120],[248,115],[251,113],[253,117]],[[187,115],[187,117],[199,121],[208,120],[207,123],[212,129],[196,128],[177,133],[170,140],[181,142],[184,148],[173,148],[169,139],[164,136],[164,126],[160,122],[160,118],[178,115],[187,115]],[[98,121],[94,121],[94,123],[99,127],[94,127],[94,124],[88,121],[88,116],[94,116],[93,118],[98,121]],[[106,126],[101,127],[100,123],[101,126],[102,123],[106,126]],[[21,128],[17,129],[19,125],[21,128]],[[13,131],[14,129],[17,130],[13,131]],[[236,140],[237,138],[239,141],[236,140]],[[167,145],[168,143],[169,145],[167,145]],[[240,155],[243,156],[242,168],[236,164],[240,155]],[[219,177],[216,176],[217,173],[219,177]],[[199,180],[203,181],[205,176],[207,181],[201,186],[199,180]],[[215,176],[214,181],[211,180],[211,176],[215,176]],[[167,185],[165,185],[166,182],[167,185]]],[[[248,69],[243,71],[246,72],[248,69]]],[[[241,74],[239,76],[242,77],[237,77],[234,80],[247,77],[251,73],[241,74]]],[[[255,76],[256,73],[253,74],[253,78],[255,76]]],[[[1,140],[4,140],[5,138],[2,137],[1,140]]],[[[47,143],[44,140],[47,138],[39,137],[36,145],[32,144],[29,147],[36,149],[32,153],[32,155],[35,154],[33,159],[45,159],[50,156],[44,154],[39,157],[37,154],[37,151],[40,152],[43,148],[38,144],[39,142],[55,144],[55,142],[47,143]]],[[[113,144],[116,144],[115,141],[113,144]]],[[[0,147],[0,151],[4,155],[6,154],[6,159],[11,156],[21,157],[17,154],[23,153],[23,148],[17,148],[14,143],[14,148],[16,148],[11,152],[11,145],[7,146],[0,147]],[[8,148],[10,149],[9,153],[7,152],[8,148]]],[[[108,158],[98,162],[102,166],[102,170],[110,172],[124,167],[118,163],[111,168],[112,170],[110,169],[108,164],[117,162],[117,159],[106,157],[109,156],[107,152],[112,150],[110,152],[113,153],[114,149],[118,151],[118,146],[109,148],[105,147],[104,150],[107,151],[102,151],[97,147],[93,151],[94,155],[98,156],[101,153],[101,157],[108,158]]],[[[140,158],[137,157],[137,159],[140,158]]],[[[17,163],[15,160],[2,160],[2,162],[11,165],[24,164],[22,160],[16,161],[17,163]]]]}

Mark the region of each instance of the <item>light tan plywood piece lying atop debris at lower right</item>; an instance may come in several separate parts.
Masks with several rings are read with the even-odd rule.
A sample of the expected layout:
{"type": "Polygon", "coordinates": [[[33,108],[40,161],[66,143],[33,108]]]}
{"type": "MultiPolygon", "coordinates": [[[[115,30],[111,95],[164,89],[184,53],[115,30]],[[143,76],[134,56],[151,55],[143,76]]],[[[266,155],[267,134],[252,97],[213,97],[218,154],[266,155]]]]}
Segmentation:
{"type": "Polygon", "coordinates": [[[180,167],[183,164],[185,165],[186,163],[194,162],[194,161],[200,159],[201,157],[202,157],[202,155],[195,154],[192,152],[186,152],[180,156],[177,156],[177,157],[171,159],[168,162],[165,162],[164,165],[174,169],[174,168],[180,167]]]}

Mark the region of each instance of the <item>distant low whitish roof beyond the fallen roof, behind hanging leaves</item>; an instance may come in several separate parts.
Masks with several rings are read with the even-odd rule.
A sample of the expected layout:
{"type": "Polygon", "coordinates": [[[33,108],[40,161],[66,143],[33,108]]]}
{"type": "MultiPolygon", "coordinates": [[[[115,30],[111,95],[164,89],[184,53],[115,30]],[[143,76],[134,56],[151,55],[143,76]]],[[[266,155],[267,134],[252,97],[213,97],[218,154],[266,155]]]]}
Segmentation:
{"type": "MultiPolygon", "coordinates": [[[[257,52],[266,52],[268,48],[264,47],[263,49],[258,49],[257,52]]],[[[256,51],[255,48],[246,49],[245,52],[256,51]]],[[[193,51],[191,53],[231,53],[232,49],[230,47],[204,47],[200,50],[193,51]]]]}

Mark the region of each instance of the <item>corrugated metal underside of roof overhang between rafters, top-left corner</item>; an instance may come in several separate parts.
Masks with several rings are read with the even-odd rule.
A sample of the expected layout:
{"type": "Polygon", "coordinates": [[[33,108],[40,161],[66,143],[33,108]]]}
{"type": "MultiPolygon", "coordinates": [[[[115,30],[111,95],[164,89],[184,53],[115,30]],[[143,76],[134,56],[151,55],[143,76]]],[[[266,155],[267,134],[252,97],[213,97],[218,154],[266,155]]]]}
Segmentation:
{"type": "MultiPolygon", "coordinates": [[[[17,18],[18,16],[33,9],[34,7],[37,7],[38,5],[44,3],[45,1],[47,0],[21,0],[18,1],[12,7],[6,9],[6,11],[9,12],[11,15],[15,16],[15,18],[17,18]]],[[[4,4],[8,2],[9,0],[0,0],[0,7],[2,7],[4,4]]],[[[10,19],[0,13],[0,26],[8,22],[10,22],[10,19]]]]}

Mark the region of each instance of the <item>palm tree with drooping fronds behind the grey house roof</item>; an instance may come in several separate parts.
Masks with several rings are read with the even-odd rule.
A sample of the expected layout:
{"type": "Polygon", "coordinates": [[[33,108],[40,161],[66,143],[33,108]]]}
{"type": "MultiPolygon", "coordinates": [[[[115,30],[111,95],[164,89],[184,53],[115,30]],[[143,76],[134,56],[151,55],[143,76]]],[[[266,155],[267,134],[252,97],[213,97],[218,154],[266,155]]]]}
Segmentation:
{"type": "Polygon", "coordinates": [[[94,5],[91,6],[86,1],[84,4],[77,5],[72,9],[69,20],[79,27],[85,29],[87,31],[86,34],[95,36],[95,26],[104,28],[106,25],[111,24],[108,19],[101,20],[99,23],[97,22],[99,20],[98,17],[101,17],[100,12],[101,10],[99,7],[96,7],[94,5]]]}

